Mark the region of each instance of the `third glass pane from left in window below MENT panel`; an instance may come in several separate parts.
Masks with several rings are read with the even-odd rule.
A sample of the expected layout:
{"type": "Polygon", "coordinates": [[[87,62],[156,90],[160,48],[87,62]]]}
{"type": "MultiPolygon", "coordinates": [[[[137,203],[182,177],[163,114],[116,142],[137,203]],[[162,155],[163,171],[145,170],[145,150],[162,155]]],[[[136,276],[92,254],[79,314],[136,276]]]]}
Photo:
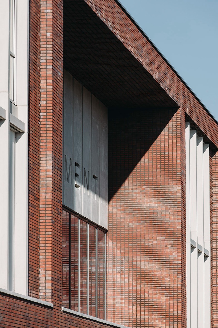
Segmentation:
{"type": "Polygon", "coordinates": [[[87,226],[80,220],[80,312],[87,314],[87,226]]]}

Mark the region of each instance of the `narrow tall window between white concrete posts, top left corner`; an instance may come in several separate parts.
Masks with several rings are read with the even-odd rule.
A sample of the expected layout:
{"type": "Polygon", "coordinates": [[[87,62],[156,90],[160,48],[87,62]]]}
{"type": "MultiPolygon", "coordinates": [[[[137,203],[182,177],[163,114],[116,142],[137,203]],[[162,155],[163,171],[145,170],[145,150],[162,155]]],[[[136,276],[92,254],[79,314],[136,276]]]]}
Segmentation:
{"type": "Polygon", "coordinates": [[[10,99],[16,101],[16,0],[10,0],[10,99]]]}

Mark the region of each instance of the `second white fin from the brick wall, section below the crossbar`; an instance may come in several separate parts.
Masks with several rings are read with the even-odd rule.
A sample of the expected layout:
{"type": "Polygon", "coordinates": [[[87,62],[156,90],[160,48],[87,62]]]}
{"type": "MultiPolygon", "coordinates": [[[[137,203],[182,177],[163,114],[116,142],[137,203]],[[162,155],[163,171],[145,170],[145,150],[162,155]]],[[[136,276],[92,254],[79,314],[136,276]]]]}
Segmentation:
{"type": "Polygon", "coordinates": [[[198,279],[198,272],[197,272],[197,248],[191,248],[191,328],[198,327],[197,321],[197,279],[198,279]]]}

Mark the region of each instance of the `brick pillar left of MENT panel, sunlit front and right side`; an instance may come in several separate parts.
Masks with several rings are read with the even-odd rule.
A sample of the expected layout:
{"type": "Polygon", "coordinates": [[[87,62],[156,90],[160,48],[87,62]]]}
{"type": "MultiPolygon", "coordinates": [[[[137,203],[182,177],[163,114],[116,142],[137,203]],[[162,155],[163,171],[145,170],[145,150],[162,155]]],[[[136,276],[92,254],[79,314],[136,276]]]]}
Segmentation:
{"type": "Polygon", "coordinates": [[[40,297],[61,304],[62,1],[41,1],[40,297]]]}

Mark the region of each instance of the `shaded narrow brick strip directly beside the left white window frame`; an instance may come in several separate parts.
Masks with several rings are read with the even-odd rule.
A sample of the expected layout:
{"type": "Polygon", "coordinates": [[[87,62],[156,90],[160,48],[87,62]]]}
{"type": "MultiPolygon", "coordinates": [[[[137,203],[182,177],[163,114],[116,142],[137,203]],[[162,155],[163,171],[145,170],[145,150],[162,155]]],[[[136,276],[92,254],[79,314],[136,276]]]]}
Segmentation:
{"type": "Polygon", "coordinates": [[[39,298],[40,1],[29,8],[29,296],[39,298]]]}

